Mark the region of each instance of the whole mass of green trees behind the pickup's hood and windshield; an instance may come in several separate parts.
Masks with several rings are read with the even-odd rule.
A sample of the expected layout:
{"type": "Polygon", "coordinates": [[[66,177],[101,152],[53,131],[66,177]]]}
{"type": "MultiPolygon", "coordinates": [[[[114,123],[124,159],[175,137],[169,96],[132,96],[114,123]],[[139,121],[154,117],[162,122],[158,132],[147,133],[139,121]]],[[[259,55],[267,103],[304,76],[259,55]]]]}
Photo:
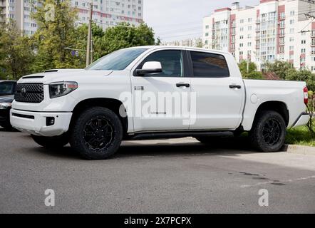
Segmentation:
{"type": "MultiPolygon", "coordinates": [[[[37,24],[32,36],[22,34],[14,21],[0,26],[0,80],[14,79],[51,68],[85,68],[88,26],[76,26],[77,11],[69,0],[38,0],[31,15],[37,24]],[[53,9],[53,11],[50,11],[53,9]],[[76,53],[78,51],[78,53],[76,53]]],[[[160,44],[146,24],[119,24],[106,31],[92,25],[93,61],[131,46],[160,44]]]]}

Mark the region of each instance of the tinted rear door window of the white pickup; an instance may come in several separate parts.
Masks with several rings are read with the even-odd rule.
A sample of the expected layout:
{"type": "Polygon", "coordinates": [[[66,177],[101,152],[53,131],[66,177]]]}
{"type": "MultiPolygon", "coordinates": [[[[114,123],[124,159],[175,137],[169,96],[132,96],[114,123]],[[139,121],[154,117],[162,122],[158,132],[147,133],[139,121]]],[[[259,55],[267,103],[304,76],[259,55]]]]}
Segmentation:
{"type": "Polygon", "coordinates": [[[214,53],[190,52],[196,78],[229,77],[229,68],[224,56],[214,53]]]}

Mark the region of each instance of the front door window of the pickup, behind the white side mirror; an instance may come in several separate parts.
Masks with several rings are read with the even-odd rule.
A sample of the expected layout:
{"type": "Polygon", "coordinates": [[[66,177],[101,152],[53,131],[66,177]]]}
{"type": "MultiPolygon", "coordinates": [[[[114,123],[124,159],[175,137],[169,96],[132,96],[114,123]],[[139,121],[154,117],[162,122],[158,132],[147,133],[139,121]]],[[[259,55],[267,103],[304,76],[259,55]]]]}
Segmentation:
{"type": "Polygon", "coordinates": [[[162,65],[162,73],[153,74],[153,77],[182,77],[182,51],[157,51],[140,64],[142,68],[145,62],[158,61],[162,65]]]}

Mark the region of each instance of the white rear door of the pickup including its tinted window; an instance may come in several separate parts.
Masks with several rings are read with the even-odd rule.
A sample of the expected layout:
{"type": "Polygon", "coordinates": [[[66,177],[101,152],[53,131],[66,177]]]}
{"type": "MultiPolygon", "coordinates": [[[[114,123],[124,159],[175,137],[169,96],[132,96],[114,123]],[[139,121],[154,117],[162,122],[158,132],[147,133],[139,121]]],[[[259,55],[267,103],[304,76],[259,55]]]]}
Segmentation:
{"type": "MultiPolygon", "coordinates": [[[[244,83],[220,53],[188,51],[192,78],[191,130],[228,130],[242,121],[244,83]]],[[[232,57],[231,57],[232,58],[232,57]]],[[[230,61],[231,59],[229,59],[230,61]]],[[[234,61],[232,59],[232,61],[234,61]]]]}

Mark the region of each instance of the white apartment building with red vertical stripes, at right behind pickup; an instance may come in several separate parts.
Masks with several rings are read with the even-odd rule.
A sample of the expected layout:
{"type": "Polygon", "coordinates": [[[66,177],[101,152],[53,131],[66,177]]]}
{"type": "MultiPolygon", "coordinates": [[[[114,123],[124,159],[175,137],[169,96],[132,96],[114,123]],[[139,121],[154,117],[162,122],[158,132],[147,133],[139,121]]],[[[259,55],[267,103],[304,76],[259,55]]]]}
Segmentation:
{"type": "Polygon", "coordinates": [[[260,0],[257,6],[216,9],[203,19],[205,48],[229,51],[259,69],[266,62],[289,61],[315,71],[315,1],[260,0]]]}

